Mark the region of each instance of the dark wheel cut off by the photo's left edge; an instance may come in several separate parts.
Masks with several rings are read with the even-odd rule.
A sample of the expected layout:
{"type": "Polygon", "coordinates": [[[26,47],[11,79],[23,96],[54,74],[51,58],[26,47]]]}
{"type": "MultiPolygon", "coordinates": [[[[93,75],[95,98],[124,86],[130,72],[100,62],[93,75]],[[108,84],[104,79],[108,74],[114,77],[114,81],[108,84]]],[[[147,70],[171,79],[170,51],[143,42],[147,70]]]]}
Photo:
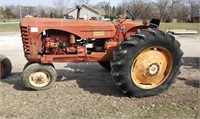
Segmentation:
{"type": "Polygon", "coordinates": [[[8,77],[12,70],[12,64],[10,60],[2,54],[0,54],[0,65],[1,65],[0,78],[3,79],[8,77]]]}

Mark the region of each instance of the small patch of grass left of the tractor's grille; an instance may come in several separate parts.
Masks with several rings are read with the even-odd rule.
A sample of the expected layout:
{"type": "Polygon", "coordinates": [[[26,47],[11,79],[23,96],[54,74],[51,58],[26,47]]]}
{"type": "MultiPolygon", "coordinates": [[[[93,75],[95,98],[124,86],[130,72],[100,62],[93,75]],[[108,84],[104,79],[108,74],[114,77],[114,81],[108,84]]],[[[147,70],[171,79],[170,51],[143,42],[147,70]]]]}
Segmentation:
{"type": "Polygon", "coordinates": [[[0,23],[0,32],[19,32],[19,23],[0,23]]]}

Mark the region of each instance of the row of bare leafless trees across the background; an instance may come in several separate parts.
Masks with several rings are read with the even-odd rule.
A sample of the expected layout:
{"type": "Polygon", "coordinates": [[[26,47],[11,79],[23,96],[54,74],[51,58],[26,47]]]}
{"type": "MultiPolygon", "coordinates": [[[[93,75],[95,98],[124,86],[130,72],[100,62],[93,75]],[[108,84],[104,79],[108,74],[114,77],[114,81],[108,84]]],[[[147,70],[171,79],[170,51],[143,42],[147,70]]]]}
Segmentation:
{"type": "Polygon", "coordinates": [[[91,4],[90,0],[52,0],[54,7],[46,6],[1,6],[0,19],[20,18],[20,14],[35,15],[38,17],[63,18],[68,8],[74,8],[77,5],[88,5],[92,8],[101,8],[105,10],[107,18],[117,19],[120,15],[129,10],[135,19],[159,18],[163,22],[171,22],[177,19],[178,22],[191,21],[191,17],[199,15],[199,0],[123,0],[117,6],[112,6],[110,2],[102,1],[97,4],[91,4]],[[19,12],[20,11],[20,12],[19,12]]]}

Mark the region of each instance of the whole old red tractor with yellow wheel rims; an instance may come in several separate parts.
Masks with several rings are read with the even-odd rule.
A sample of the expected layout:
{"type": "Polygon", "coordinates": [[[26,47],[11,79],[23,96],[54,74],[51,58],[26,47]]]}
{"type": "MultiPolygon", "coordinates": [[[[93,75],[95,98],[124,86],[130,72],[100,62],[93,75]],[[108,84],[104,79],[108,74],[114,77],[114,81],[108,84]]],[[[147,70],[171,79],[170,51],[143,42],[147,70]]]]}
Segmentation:
{"type": "Polygon", "coordinates": [[[110,70],[129,97],[152,96],[166,90],[180,73],[180,43],[148,25],[122,20],[24,18],[20,28],[24,54],[22,80],[27,88],[48,89],[57,79],[53,62],[99,62],[110,70]]]}

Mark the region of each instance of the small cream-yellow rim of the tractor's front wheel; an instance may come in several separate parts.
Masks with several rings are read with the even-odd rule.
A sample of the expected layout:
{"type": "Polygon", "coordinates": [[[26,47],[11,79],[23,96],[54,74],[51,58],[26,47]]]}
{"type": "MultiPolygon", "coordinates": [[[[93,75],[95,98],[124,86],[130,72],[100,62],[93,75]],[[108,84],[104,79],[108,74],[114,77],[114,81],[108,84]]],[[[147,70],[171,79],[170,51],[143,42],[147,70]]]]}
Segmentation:
{"type": "Polygon", "coordinates": [[[50,74],[45,71],[34,72],[29,76],[29,82],[34,87],[44,87],[50,82],[50,74]]]}

